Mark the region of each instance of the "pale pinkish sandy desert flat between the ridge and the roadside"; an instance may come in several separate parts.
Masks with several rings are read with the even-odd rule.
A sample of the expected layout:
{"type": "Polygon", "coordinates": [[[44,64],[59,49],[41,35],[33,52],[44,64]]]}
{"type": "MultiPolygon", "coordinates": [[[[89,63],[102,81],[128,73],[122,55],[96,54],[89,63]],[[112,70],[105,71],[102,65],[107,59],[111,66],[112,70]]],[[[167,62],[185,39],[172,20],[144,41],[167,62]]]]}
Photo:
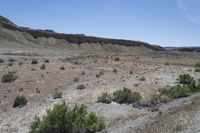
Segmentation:
{"type": "Polygon", "coordinates": [[[62,100],[69,105],[83,103],[89,111],[102,116],[106,120],[107,132],[133,132],[133,129],[148,120],[149,114],[157,114],[152,114],[146,108],[133,108],[132,105],[97,103],[98,95],[127,87],[140,92],[143,101],[146,101],[157,93],[159,88],[176,84],[179,74],[188,73],[200,78],[200,74],[194,72],[193,68],[193,64],[199,62],[199,53],[152,52],[141,55],[86,54],[54,49],[19,51],[20,49],[16,51],[5,48],[0,50],[0,57],[5,60],[0,63],[0,77],[10,71],[15,71],[18,75],[13,83],[0,82],[1,133],[27,133],[35,115],[45,115],[46,109],[62,100]],[[115,57],[120,60],[115,61],[115,57]],[[8,66],[10,58],[15,59],[13,66],[8,66]],[[37,59],[39,63],[32,65],[32,59],[37,59]],[[46,59],[50,62],[44,63],[46,59]],[[20,66],[19,62],[23,62],[23,65],[20,66]],[[167,62],[169,65],[166,65],[167,62]],[[46,69],[40,69],[42,64],[46,65],[46,69]],[[64,66],[65,70],[60,70],[61,66],[64,66]],[[114,73],[113,69],[117,69],[117,73],[114,73]],[[133,74],[130,74],[130,70],[133,74]],[[96,77],[100,71],[103,75],[96,77]],[[80,80],[74,82],[74,77],[80,80]],[[140,81],[141,77],[146,80],[140,81]],[[79,84],[84,84],[86,89],[76,89],[79,84]],[[55,88],[62,91],[61,99],[53,99],[55,88]],[[27,97],[28,105],[13,108],[12,103],[19,95],[27,97]]]}

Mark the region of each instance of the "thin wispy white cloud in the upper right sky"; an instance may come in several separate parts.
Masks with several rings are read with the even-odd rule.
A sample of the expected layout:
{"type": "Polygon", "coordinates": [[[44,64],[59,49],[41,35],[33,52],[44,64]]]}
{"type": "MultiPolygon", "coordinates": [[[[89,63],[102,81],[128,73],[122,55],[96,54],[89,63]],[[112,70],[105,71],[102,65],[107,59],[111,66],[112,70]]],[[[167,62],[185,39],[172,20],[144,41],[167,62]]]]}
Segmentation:
{"type": "Polygon", "coordinates": [[[189,21],[200,24],[200,15],[193,14],[184,0],[177,0],[177,7],[183,11],[189,21]]]}

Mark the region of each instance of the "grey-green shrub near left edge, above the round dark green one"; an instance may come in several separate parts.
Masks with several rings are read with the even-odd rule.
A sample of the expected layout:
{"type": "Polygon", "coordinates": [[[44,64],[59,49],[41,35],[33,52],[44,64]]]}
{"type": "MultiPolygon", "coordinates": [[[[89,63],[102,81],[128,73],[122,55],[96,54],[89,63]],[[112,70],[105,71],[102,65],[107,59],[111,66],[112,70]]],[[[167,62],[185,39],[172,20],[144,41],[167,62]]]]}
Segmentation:
{"type": "Polygon", "coordinates": [[[3,83],[12,83],[17,79],[17,75],[15,72],[8,72],[7,74],[3,75],[1,82],[3,83]]]}

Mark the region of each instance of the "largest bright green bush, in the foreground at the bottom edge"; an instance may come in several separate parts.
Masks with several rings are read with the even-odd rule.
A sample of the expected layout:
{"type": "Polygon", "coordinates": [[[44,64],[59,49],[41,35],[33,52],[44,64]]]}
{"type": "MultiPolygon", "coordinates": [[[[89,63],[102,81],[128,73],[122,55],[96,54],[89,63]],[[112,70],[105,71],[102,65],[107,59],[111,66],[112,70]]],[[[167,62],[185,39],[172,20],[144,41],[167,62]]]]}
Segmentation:
{"type": "Polygon", "coordinates": [[[88,113],[84,105],[69,107],[63,102],[48,109],[42,119],[36,117],[30,133],[95,133],[104,128],[104,120],[88,113]]]}

